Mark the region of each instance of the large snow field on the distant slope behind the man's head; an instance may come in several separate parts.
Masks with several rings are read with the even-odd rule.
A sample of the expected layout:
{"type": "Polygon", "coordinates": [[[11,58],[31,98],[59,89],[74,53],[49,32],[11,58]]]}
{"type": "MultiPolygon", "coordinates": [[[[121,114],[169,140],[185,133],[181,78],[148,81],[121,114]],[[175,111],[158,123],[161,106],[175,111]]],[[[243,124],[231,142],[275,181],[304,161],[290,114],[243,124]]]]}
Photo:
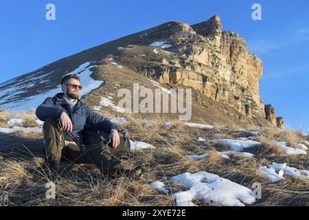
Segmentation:
{"type": "MultiPolygon", "coordinates": [[[[97,67],[93,62],[86,62],[80,65],[78,68],[69,72],[68,74],[76,74],[80,77],[80,85],[82,85],[83,89],[80,91],[80,98],[82,96],[88,94],[93,89],[96,89],[102,85],[103,81],[93,80],[91,78],[92,71],[90,70],[93,67],[97,67]]],[[[59,83],[60,84],[60,83],[59,83]]],[[[8,94],[12,94],[12,92],[16,91],[16,87],[10,88],[10,92],[8,94]]],[[[1,94],[4,91],[1,91],[1,94]]],[[[23,98],[18,101],[10,102],[7,104],[0,104],[1,109],[10,109],[12,111],[30,111],[36,109],[39,104],[41,104],[46,98],[54,97],[57,93],[62,92],[61,85],[55,85],[54,89],[50,89],[49,91],[38,91],[38,95],[29,96],[27,98],[23,98]]],[[[6,92],[5,92],[6,93],[6,92]]],[[[0,96],[1,96],[0,94],[0,96]]],[[[4,101],[4,100],[1,100],[4,101]]]]}

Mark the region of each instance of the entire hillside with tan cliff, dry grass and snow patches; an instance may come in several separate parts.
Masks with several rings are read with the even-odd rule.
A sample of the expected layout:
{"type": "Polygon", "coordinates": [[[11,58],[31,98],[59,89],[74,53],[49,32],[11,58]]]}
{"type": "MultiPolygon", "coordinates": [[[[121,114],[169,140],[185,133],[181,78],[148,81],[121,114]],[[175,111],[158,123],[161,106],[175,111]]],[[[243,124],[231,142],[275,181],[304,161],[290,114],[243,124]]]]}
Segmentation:
{"type": "Polygon", "coordinates": [[[262,66],[215,16],[163,23],[1,83],[0,206],[308,206],[309,135],[284,129],[262,102],[262,66]],[[129,131],[133,155],[123,163],[144,164],[141,177],[111,179],[68,162],[52,173],[44,164],[34,109],[61,91],[66,74],[80,76],[82,102],[129,131]],[[186,101],[192,89],[189,120],[172,112],[180,89],[186,101]],[[123,91],[132,106],[119,105],[123,91]],[[141,111],[146,91],[168,104],[154,95],[160,111],[141,111]],[[55,199],[46,197],[49,182],[55,199]]]}

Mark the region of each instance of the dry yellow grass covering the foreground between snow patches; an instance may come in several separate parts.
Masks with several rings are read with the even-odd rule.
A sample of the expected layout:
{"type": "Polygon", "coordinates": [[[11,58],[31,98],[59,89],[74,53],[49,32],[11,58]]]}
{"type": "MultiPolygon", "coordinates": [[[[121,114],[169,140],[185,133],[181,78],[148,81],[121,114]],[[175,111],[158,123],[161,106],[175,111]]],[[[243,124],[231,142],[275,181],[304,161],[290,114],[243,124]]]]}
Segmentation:
{"type": "MultiPolygon", "coordinates": [[[[104,116],[114,118],[117,113],[104,112],[104,116]]],[[[10,117],[10,116],[8,116],[10,117]]],[[[215,129],[188,128],[177,120],[168,120],[162,115],[152,115],[147,119],[134,114],[125,114],[129,123],[122,124],[130,133],[130,139],[140,140],[155,146],[155,149],[137,151],[133,157],[124,161],[126,168],[138,164],[146,164],[147,170],[142,178],[119,177],[109,179],[100,175],[97,169],[83,164],[61,164],[60,173],[51,174],[43,162],[42,157],[21,157],[19,154],[3,154],[0,157],[0,198],[3,205],[9,206],[175,206],[172,193],[187,190],[180,184],[170,181],[170,177],[180,173],[194,173],[204,170],[220,177],[235,181],[242,186],[252,188],[253,183],[262,185],[262,199],[253,206],[308,206],[308,179],[286,176],[284,181],[272,184],[258,171],[260,166],[267,166],[271,162],[288,163],[299,169],[308,170],[307,155],[282,155],[267,143],[269,140],[286,141],[292,146],[304,140],[297,132],[290,130],[265,129],[256,136],[261,142],[249,152],[255,157],[247,158],[229,155],[231,160],[220,157],[217,151],[227,151],[229,148],[222,144],[200,143],[197,137],[206,140],[214,139],[214,133],[220,133],[220,138],[248,137],[250,134],[239,131],[236,127],[218,126],[215,129]],[[144,128],[144,122],[153,124],[144,128]],[[161,122],[171,122],[172,128],[163,128],[161,122]],[[202,149],[199,146],[208,146],[202,149]],[[186,155],[208,156],[194,161],[186,155]],[[167,185],[168,193],[157,192],[150,187],[150,182],[159,180],[167,185]],[[46,199],[45,184],[53,181],[56,184],[56,199],[46,199]],[[5,201],[5,202],[4,202],[5,201]]],[[[30,134],[19,133],[26,139],[30,134]]],[[[42,136],[32,137],[41,139],[42,136]]],[[[30,149],[31,150],[31,149],[30,149]]],[[[1,155],[1,154],[0,154],[1,155]]],[[[253,189],[253,188],[252,188],[253,189]]],[[[218,206],[216,203],[194,200],[201,206],[218,206]]]]}

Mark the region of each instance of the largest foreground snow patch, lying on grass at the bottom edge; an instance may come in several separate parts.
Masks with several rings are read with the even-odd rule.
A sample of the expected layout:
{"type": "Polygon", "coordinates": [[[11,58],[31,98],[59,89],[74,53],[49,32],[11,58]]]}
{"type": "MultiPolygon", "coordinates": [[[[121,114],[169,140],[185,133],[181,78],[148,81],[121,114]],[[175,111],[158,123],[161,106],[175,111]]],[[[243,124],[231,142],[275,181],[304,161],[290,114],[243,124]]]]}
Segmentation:
{"type": "Polygon", "coordinates": [[[172,177],[172,181],[190,188],[173,194],[177,206],[196,206],[192,199],[214,201],[223,206],[244,206],[244,203],[255,202],[253,192],[249,188],[205,171],[176,175],[172,177]]]}

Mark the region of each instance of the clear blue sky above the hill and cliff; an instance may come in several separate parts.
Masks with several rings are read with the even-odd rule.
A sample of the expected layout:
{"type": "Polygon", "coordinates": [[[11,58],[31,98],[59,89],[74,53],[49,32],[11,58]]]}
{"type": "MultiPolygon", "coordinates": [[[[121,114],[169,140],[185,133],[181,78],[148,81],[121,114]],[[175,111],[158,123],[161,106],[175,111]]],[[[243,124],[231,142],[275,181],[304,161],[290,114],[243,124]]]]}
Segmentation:
{"type": "Polygon", "coordinates": [[[1,0],[0,83],[60,58],[167,21],[198,23],[218,14],[264,62],[260,94],[286,126],[309,132],[309,2],[1,0]],[[56,21],[45,5],[56,5],[56,21]],[[251,6],[262,5],[262,21],[251,6]]]}

